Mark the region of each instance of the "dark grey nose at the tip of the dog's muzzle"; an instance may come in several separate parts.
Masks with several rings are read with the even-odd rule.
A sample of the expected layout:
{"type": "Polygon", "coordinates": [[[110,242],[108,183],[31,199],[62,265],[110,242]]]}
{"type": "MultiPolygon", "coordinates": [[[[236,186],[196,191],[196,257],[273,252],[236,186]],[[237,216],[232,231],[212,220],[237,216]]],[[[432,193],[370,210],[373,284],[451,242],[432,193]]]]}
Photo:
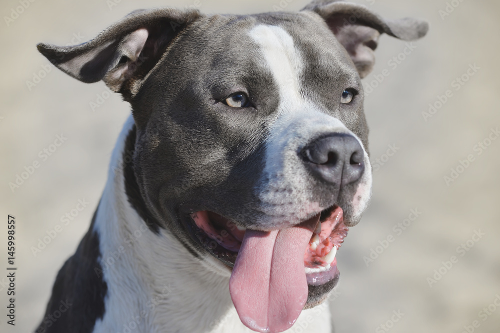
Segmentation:
{"type": "Polygon", "coordinates": [[[346,185],[364,171],[363,149],[355,137],[331,133],[305,146],[300,155],[312,173],[323,181],[346,185]]]}

